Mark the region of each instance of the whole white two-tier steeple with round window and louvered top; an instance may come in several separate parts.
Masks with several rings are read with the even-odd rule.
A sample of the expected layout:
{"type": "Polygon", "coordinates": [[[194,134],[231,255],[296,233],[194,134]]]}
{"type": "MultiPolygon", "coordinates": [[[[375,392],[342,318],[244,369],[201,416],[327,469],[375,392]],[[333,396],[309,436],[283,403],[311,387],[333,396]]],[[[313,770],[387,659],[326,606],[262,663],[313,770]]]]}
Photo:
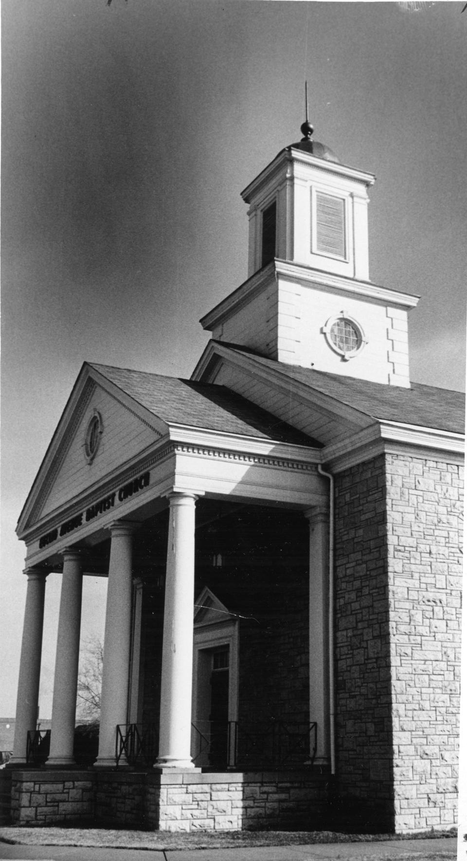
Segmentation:
{"type": "Polygon", "coordinates": [[[302,134],[242,192],[248,280],[202,325],[278,362],[408,387],[408,310],[418,297],[370,282],[375,177],[340,164],[308,120],[302,134]]]}

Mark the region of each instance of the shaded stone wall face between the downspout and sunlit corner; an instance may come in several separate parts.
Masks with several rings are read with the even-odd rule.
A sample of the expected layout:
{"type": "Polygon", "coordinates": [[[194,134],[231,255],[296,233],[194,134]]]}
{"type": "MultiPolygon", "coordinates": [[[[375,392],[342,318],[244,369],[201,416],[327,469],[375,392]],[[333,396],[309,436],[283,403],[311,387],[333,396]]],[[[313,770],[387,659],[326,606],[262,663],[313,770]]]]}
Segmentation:
{"type": "Polygon", "coordinates": [[[394,825],[384,457],[335,481],[336,753],[349,825],[394,825]]]}

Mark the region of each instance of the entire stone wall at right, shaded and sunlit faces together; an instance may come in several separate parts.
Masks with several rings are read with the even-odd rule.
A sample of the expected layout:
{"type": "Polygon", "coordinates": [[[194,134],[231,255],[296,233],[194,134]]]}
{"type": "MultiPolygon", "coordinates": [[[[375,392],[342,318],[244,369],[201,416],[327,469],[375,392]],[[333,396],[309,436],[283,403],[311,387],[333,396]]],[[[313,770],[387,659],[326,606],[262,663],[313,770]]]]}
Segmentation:
{"type": "Polygon", "coordinates": [[[455,822],[463,478],[408,455],[336,476],[338,797],[370,830],[455,822]]]}

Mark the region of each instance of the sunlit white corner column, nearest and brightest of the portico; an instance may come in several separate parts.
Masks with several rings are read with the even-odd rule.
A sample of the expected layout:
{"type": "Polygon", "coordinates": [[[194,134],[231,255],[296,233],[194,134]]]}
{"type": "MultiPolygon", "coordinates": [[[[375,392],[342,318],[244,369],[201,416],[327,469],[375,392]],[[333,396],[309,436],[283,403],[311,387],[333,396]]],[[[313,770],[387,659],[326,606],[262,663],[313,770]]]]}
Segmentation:
{"type": "Polygon", "coordinates": [[[190,756],[196,496],[170,499],[157,765],[193,768],[190,756]]]}

